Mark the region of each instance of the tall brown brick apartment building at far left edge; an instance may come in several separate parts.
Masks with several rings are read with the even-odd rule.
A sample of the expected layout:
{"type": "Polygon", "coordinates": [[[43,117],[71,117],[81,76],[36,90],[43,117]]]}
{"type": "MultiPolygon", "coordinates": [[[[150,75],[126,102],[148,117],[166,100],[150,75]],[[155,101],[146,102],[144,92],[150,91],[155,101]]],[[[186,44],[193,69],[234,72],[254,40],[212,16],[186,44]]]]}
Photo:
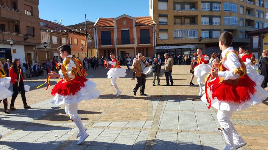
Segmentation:
{"type": "Polygon", "coordinates": [[[0,59],[18,58],[21,63],[37,61],[41,43],[38,0],[0,0],[0,59]],[[13,53],[7,40],[15,40],[13,53]]]}

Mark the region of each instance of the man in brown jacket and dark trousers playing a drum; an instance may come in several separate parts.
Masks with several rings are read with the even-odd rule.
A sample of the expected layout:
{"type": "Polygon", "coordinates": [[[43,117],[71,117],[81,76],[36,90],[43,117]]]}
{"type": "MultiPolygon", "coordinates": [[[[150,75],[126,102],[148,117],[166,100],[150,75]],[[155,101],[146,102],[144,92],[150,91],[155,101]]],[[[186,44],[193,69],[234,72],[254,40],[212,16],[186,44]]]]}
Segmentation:
{"type": "Polygon", "coordinates": [[[144,94],[145,89],[145,75],[143,74],[144,68],[149,66],[149,63],[146,64],[145,61],[142,61],[142,54],[138,53],[138,59],[133,62],[132,70],[135,72],[135,76],[137,78],[136,87],[133,89],[133,94],[136,95],[137,90],[140,88],[140,94],[146,96],[144,94]]]}

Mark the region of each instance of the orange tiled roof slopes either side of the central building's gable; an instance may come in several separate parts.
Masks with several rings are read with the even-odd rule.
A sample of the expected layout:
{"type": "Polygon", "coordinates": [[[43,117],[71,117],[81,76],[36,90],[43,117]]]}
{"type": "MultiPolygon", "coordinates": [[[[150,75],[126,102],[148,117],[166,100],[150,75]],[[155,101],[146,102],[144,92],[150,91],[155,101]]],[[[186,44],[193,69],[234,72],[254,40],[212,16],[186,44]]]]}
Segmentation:
{"type": "MultiPolygon", "coordinates": [[[[154,25],[152,17],[134,17],[136,18],[136,26],[154,25]]],[[[93,27],[113,27],[114,18],[99,18],[93,27]]]]}

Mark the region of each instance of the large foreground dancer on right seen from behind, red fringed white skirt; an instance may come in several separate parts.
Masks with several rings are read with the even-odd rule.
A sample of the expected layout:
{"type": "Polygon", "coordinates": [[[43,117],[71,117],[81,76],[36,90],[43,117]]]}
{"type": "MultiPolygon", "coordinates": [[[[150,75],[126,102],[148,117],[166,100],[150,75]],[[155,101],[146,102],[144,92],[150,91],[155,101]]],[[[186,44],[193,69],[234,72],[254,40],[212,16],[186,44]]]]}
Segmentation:
{"type": "Polygon", "coordinates": [[[214,71],[206,78],[206,94],[201,100],[218,109],[217,119],[221,127],[226,147],[224,150],[234,150],[246,145],[230,121],[233,111],[243,110],[261,103],[268,97],[268,92],[256,85],[246,73],[246,66],[236,51],[231,47],[233,35],[224,32],[219,37],[219,47],[222,50],[222,60],[214,63],[214,71]],[[211,81],[207,82],[208,79],[211,81]],[[214,79],[213,79],[214,78],[214,79]]]}

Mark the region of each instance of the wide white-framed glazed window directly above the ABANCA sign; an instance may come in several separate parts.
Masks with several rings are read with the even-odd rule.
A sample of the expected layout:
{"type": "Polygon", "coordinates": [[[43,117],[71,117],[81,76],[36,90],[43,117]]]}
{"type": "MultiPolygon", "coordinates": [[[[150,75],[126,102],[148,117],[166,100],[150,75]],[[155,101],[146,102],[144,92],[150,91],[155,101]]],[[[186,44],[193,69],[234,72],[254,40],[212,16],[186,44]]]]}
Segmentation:
{"type": "Polygon", "coordinates": [[[179,29],[174,30],[174,39],[195,39],[198,38],[197,29],[179,29]]]}

